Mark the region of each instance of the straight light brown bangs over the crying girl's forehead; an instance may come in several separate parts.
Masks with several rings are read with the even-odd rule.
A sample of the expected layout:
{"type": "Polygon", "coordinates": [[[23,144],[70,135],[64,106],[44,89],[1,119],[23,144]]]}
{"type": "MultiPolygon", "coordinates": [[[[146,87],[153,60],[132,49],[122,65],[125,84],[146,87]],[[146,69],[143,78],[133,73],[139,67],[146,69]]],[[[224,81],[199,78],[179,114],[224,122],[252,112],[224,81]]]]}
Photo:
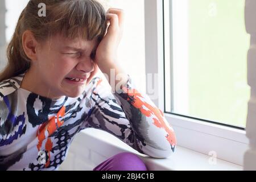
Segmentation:
{"type": "Polygon", "coordinates": [[[79,37],[85,40],[104,37],[106,13],[97,1],[66,1],[54,6],[49,5],[46,11],[48,20],[44,27],[49,36],[60,33],[69,39],[79,37]]]}

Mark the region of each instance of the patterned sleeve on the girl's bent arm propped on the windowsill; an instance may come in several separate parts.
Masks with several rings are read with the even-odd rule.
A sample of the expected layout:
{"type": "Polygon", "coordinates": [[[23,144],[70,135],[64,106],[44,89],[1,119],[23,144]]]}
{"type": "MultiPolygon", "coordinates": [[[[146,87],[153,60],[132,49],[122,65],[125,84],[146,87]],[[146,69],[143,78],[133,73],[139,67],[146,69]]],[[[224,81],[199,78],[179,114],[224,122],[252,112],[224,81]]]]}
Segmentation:
{"type": "Polygon", "coordinates": [[[115,93],[102,78],[93,80],[93,106],[85,127],[107,131],[142,154],[167,158],[175,150],[174,130],[163,112],[146,94],[138,92],[127,77],[122,90],[115,93]]]}

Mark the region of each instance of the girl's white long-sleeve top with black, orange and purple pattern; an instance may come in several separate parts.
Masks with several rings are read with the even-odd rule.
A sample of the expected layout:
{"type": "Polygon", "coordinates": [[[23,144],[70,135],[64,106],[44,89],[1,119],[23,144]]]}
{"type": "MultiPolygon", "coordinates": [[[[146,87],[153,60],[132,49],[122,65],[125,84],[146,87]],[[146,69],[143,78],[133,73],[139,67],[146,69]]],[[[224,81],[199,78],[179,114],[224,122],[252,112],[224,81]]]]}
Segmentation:
{"type": "Polygon", "coordinates": [[[174,130],[129,75],[115,93],[97,76],[79,97],[55,100],[21,88],[24,74],[0,82],[1,170],[55,170],[75,135],[88,127],[107,131],[154,158],[174,152],[174,130]]]}

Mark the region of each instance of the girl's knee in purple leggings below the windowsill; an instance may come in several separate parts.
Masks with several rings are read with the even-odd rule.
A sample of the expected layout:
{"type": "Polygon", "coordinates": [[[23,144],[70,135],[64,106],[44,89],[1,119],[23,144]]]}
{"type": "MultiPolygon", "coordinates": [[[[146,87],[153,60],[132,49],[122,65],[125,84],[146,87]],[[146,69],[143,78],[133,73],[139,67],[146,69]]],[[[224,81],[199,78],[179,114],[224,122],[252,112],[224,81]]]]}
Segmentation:
{"type": "Polygon", "coordinates": [[[98,164],[93,171],[147,171],[147,167],[137,155],[121,152],[98,164]]]}

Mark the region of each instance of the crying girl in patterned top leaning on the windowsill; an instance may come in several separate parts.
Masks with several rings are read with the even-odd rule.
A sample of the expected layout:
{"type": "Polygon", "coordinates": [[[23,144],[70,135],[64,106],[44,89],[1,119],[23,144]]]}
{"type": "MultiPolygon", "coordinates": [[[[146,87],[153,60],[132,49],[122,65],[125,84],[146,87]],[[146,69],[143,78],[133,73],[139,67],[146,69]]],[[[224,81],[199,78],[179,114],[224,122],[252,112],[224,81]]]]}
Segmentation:
{"type": "MultiPolygon", "coordinates": [[[[0,75],[2,170],[57,169],[75,135],[88,127],[154,158],[174,152],[174,130],[162,111],[117,63],[122,28],[123,11],[106,13],[94,0],[28,2],[0,75]],[[45,16],[39,16],[39,3],[46,5],[45,16]],[[114,84],[104,85],[96,76],[102,71],[108,80],[113,70],[122,75],[114,84]]],[[[135,154],[122,152],[93,170],[147,167],[135,154]]]]}

